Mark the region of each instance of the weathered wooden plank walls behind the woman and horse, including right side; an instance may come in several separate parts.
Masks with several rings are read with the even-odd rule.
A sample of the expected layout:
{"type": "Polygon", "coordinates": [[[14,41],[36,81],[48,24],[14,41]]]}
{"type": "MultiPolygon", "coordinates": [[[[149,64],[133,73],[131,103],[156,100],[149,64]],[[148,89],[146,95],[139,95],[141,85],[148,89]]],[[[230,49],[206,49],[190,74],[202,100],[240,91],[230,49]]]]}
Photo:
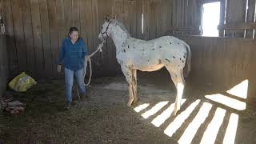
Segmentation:
{"type": "MultiPolygon", "coordinates": [[[[198,0],[0,0],[1,2],[5,12],[10,78],[22,71],[34,78],[58,78],[60,74],[56,71],[55,62],[62,38],[66,38],[69,27],[78,26],[91,53],[98,46],[99,28],[107,14],[123,22],[134,38],[147,40],[166,34],[198,34],[197,26],[200,26],[203,3],[198,0]]],[[[226,4],[226,1],[221,2],[226,4]]],[[[222,11],[227,11],[227,17],[221,17],[222,22],[225,18],[233,17],[234,20],[226,22],[243,21],[245,17],[242,17],[246,13],[239,13],[238,18],[235,18],[236,15],[231,11],[236,9],[231,2],[233,1],[227,0],[227,6],[222,6],[222,11]],[[228,9],[223,10],[225,7],[228,9]]],[[[239,2],[242,5],[238,6],[238,10],[244,10],[244,2],[239,2]]],[[[255,0],[249,0],[248,3],[251,3],[247,14],[248,22],[254,22],[255,0]]],[[[234,35],[241,36],[241,30],[234,31],[234,35]]],[[[193,53],[191,77],[222,82],[226,86],[237,84],[245,78],[256,84],[253,76],[256,67],[253,59],[255,40],[182,38],[190,44],[193,53]]],[[[113,42],[108,41],[103,50],[102,54],[93,58],[94,76],[120,73],[113,42]]],[[[250,85],[250,92],[256,93],[253,85],[250,85]]]]}

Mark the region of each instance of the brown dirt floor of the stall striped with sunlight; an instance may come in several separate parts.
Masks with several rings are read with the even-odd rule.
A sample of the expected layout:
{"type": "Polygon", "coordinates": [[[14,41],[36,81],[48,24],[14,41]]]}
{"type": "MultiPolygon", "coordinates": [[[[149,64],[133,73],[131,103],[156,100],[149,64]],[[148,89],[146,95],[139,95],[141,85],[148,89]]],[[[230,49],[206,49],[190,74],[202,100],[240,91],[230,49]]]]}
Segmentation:
{"type": "MultiPolygon", "coordinates": [[[[0,143],[178,143],[181,138],[187,141],[191,139],[191,143],[200,143],[218,107],[226,110],[226,113],[219,130],[210,130],[210,138],[216,137],[215,143],[223,142],[232,113],[238,114],[238,129],[234,127],[230,132],[234,133],[235,143],[256,143],[255,107],[246,106],[246,110],[234,110],[206,99],[206,94],[222,94],[226,90],[211,83],[198,83],[200,82],[190,78],[186,80],[183,97],[186,102],[178,116],[186,115],[182,112],[186,111],[190,104],[198,99],[200,102],[191,110],[191,114],[187,115],[182,126],[169,137],[165,130],[178,116],[162,117],[164,122],[159,127],[152,124],[158,115],[171,113],[171,110],[169,112],[166,109],[174,103],[176,91],[168,74],[138,74],[139,103],[131,108],[126,106],[128,90],[122,76],[94,78],[87,87],[90,98],[84,103],[74,101],[72,109],[68,111],[64,110],[64,82],[39,81],[37,86],[26,93],[11,93],[15,99],[26,103],[26,110],[18,116],[0,114],[0,143]],[[156,110],[159,102],[167,104],[156,110]],[[134,110],[144,103],[149,106],[139,112],[134,110]],[[209,114],[195,118],[205,103],[211,104],[209,114]],[[143,118],[142,115],[150,110],[156,111],[148,118],[143,118]],[[195,124],[196,119],[202,122],[195,124]],[[188,127],[192,127],[190,130],[198,130],[194,134],[187,133],[188,127]]],[[[203,114],[202,112],[204,110],[201,110],[200,114],[203,114]]]]}

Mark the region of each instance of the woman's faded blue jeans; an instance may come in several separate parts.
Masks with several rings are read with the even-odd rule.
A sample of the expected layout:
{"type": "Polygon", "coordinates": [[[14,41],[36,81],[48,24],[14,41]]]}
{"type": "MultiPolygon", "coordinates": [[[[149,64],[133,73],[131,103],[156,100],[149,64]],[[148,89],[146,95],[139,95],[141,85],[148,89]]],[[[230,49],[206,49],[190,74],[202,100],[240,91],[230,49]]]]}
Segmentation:
{"type": "Polygon", "coordinates": [[[83,69],[74,71],[65,68],[66,102],[72,102],[72,88],[74,83],[74,76],[77,78],[80,94],[86,94],[86,85],[84,82],[83,74],[83,69]]]}

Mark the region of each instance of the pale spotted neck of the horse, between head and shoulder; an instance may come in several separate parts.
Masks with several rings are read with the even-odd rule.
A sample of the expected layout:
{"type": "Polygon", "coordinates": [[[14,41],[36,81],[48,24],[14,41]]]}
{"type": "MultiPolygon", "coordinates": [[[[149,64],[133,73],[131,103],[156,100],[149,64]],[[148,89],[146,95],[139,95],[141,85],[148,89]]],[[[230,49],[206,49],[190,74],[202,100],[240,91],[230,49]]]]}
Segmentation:
{"type": "Polygon", "coordinates": [[[119,26],[113,26],[111,38],[117,50],[122,46],[122,43],[126,41],[128,35],[129,34],[123,31],[119,26]]]}

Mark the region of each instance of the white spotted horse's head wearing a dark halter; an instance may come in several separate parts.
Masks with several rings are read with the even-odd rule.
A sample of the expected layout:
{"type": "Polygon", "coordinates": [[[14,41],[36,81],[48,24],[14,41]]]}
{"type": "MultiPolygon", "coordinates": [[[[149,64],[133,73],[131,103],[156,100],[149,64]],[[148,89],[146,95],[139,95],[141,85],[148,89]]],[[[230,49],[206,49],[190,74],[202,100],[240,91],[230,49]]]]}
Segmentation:
{"type": "Polygon", "coordinates": [[[100,34],[98,34],[98,38],[103,41],[110,37],[110,23],[113,22],[113,19],[109,16],[106,17],[105,22],[102,25],[102,29],[100,34]]]}

